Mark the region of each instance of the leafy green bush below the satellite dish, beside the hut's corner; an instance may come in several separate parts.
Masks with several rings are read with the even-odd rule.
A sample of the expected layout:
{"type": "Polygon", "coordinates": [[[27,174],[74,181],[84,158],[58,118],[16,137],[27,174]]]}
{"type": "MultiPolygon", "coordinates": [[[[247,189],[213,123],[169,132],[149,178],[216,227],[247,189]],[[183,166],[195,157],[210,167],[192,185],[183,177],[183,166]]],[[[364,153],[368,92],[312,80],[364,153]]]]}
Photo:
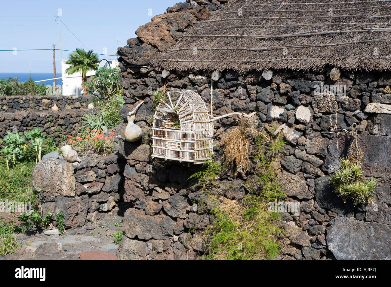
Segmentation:
{"type": "Polygon", "coordinates": [[[86,83],[88,93],[97,93],[101,100],[108,100],[113,95],[120,94],[122,91],[120,73],[119,68],[100,68],[86,83]]]}

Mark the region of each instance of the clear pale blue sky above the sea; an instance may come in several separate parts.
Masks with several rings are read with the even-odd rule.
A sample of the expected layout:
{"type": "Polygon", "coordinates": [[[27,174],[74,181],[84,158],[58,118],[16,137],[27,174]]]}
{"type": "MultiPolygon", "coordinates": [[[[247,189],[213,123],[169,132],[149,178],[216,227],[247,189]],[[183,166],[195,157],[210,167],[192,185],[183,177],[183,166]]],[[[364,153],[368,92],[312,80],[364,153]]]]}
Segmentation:
{"type": "MultiPolygon", "coordinates": [[[[21,51],[23,49],[60,48],[58,21],[54,21],[61,9],[61,21],[77,38],[95,53],[115,55],[116,38],[118,46],[125,46],[126,40],[136,37],[136,29],[151,21],[155,15],[162,14],[184,0],[13,0],[2,1],[0,9],[0,73],[30,72],[45,73],[53,71],[53,52],[21,51]],[[152,10],[149,10],[152,9],[152,10]],[[149,15],[152,13],[152,16],[149,15]]],[[[78,39],[61,23],[61,44],[63,50],[84,48],[78,39]]],[[[63,59],[69,52],[63,51],[63,59]]],[[[100,56],[101,59],[116,59],[113,56],[100,56]]],[[[59,60],[60,51],[56,51],[59,60]]],[[[57,62],[56,70],[60,71],[57,62]]]]}

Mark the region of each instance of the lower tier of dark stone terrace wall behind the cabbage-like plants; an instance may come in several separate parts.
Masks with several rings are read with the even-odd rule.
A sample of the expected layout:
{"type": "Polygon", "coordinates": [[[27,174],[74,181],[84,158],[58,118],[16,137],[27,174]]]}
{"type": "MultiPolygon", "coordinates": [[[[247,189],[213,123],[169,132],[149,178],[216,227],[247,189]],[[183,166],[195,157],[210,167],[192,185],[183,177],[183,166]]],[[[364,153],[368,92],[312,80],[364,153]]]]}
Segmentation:
{"type": "Polygon", "coordinates": [[[82,109],[0,113],[0,138],[4,138],[7,132],[23,133],[25,130],[41,128],[43,134],[48,137],[54,136],[54,139],[59,142],[61,137],[77,130],[83,114],[82,109]]]}

